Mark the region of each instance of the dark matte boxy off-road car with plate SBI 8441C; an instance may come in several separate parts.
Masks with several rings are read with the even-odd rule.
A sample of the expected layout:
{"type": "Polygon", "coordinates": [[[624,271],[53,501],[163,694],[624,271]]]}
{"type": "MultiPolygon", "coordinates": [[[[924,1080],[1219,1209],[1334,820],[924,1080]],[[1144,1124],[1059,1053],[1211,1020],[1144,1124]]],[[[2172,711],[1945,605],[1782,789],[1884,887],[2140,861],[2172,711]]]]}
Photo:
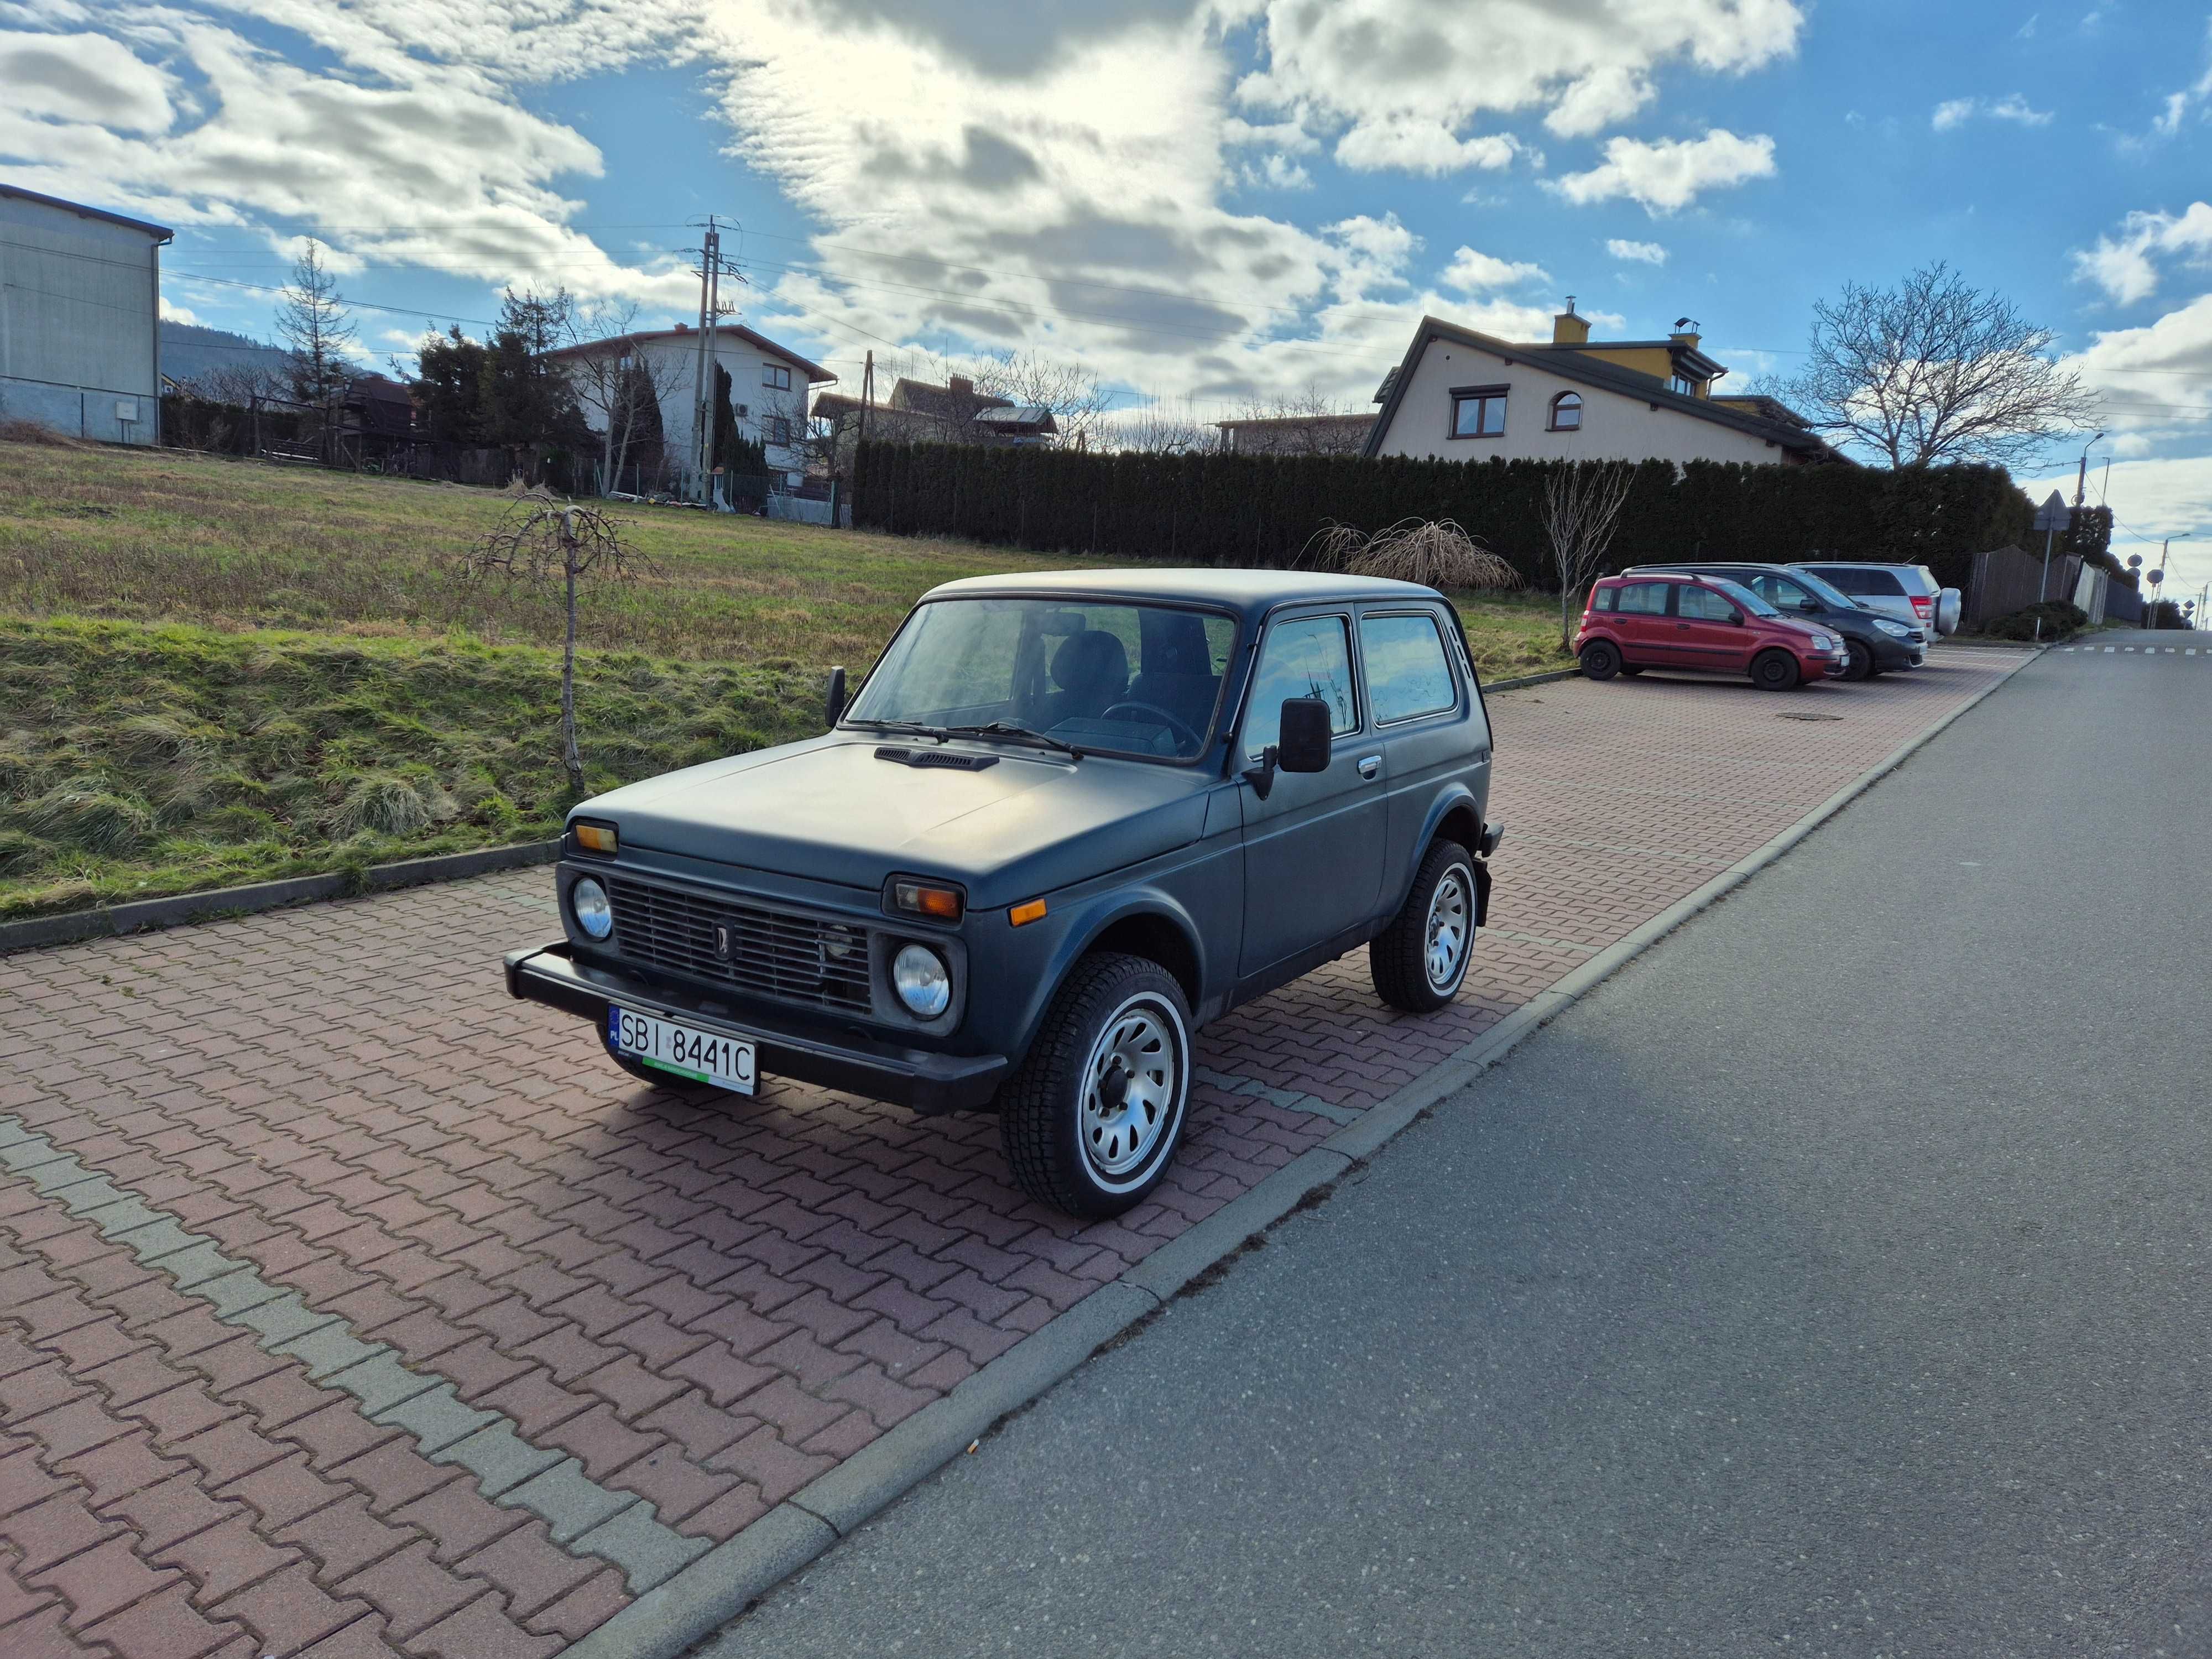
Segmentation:
{"type": "Polygon", "coordinates": [[[568,814],[507,987],[646,1079],[993,1110],[1013,1179],[1137,1203],[1192,1033],[1367,947],[1442,1009],[1489,911],[1491,728],[1433,588],[1075,571],[922,595],[830,732],[568,814]]]}

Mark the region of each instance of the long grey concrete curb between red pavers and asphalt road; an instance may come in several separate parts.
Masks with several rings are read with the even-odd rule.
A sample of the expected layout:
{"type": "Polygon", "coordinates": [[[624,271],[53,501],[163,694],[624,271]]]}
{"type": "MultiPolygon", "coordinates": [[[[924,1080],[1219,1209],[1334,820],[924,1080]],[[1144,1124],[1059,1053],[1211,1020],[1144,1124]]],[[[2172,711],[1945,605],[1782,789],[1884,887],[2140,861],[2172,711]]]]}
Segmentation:
{"type": "MultiPolygon", "coordinates": [[[[1336,1130],[1321,1146],[1292,1159],[1190,1232],[1161,1245],[1126,1274],[1009,1347],[942,1400],[922,1407],[827,1475],[792,1493],[728,1544],[701,1555],[672,1579],[641,1595],[568,1648],[564,1659],[677,1659],[785,1577],[827,1553],[832,1544],[849,1537],[863,1522],[905,1498],[958,1458],[969,1442],[980,1440],[1000,1418],[1040,1400],[1104,1343],[1166,1307],[1192,1279],[1239,1252],[1250,1239],[1267,1232],[1316,1194],[1325,1194],[1345,1172],[1383,1150],[1431,1106],[1504,1060],[1522,1040],[1551,1024],[1595,984],[1747,883],[1905,765],[1918,750],[1980,708],[2022,668],[2026,661],[2015,664],[2002,679],[1984,686],[1971,701],[1960,703],[1871,772],[1836,790],[1759,852],[1730,865],[1694,894],[1668,905],[1548,991],[1540,991],[1535,1000],[1509,1013],[1451,1060],[1371,1106],[1360,1121],[1336,1130]]],[[[1575,672],[1579,670],[1515,684],[1568,679],[1575,672]]],[[[1506,690],[1506,686],[1486,686],[1484,690],[1506,690]]]]}

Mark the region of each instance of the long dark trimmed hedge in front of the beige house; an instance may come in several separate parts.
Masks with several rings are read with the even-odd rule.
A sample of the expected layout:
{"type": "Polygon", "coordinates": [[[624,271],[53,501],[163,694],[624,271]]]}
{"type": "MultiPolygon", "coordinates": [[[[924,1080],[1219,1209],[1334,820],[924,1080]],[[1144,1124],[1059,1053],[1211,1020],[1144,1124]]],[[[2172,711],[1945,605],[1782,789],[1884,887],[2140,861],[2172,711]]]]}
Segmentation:
{"type": "MultiPolygon", "coordinates": [[[[1453,518],[1531,584],[1553,586],[1542,509],[1559,465],[869,442],[854,469],[854,524],[1035,553],[1283,566],[1329,520],[1376,531],[1407,515],[1453,518]]],[[[1964,588],[1975,553],[2028,546],[2033,515],[2002,467],[1677,471],[1650,460],[1637,467],[1613,562],[1882,560],[1927,564],[1964,588]]]]}

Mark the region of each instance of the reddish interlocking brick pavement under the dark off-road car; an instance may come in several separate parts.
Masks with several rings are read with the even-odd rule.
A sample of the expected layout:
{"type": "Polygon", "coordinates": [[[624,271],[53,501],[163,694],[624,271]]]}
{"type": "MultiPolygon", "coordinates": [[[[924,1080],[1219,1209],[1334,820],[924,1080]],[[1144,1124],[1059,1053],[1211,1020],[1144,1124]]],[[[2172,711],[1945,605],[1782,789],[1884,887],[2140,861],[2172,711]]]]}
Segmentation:
{"type": "Polygon", "coordinates": [[[991,1119],[630,1082],[498,956],[549,872],[0,960],[0,1655],[546,1655],[1980,692],[1493,699],[1462,1000],[1345,958],[1201,1037],[1077,1228],[991,1119]]]}

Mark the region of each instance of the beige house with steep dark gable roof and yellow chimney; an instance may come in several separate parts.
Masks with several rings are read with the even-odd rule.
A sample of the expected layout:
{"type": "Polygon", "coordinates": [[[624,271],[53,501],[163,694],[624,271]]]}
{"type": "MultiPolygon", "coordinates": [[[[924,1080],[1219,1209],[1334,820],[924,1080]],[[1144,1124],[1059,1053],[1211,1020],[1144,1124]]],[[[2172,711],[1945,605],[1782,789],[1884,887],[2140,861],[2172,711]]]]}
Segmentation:
{"type": "Polygon", "coordinates": [[[1843,460],[1772,398],[1714,396],[1728,369],[1688,330],[1593,341],[1575,303],[1551,341],[1500,341],[1425,316],[1376,392],[1367,456],[1433,460],[1843,460]]]}

